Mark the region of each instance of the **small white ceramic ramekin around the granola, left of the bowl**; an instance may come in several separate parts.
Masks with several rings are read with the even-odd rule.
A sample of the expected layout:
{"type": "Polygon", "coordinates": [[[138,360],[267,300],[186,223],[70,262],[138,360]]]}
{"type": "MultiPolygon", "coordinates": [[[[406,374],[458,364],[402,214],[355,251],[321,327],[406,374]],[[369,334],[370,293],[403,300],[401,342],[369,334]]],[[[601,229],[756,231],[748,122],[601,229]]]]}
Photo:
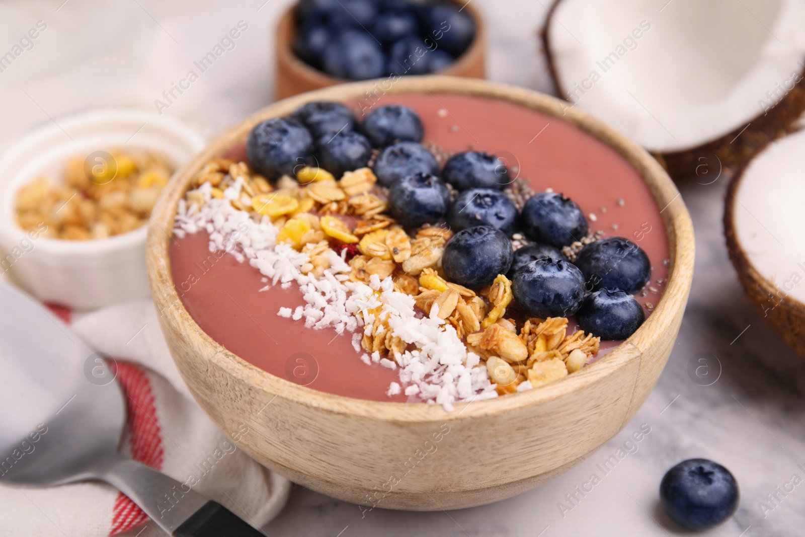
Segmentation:
{"type": "Polygon", "coordinates": [[[138,110],[81,114],[31,132],[0,159],[0,273],[43,301],[76,309],[149,295],[146,226],[105,239],[64,241],[27,233],[14,221],[23,184],[39,175],[60,180],[68,157],[115,147],[161,151],[178,170],[204,140],[174,119],[138,110]]]}

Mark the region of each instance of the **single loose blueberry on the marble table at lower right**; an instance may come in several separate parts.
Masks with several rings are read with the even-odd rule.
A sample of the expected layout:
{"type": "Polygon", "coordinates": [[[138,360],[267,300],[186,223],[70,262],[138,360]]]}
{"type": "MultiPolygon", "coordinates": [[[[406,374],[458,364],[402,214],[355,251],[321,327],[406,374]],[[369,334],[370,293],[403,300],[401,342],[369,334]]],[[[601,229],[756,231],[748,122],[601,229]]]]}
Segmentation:
{"type": "Polygon", "coordinates": [[[707,459],[680,462],[659,485],[659,499],[668,516],[694,531],[718,526],[733,516],[740,496],[733,474],[707,459]]]}

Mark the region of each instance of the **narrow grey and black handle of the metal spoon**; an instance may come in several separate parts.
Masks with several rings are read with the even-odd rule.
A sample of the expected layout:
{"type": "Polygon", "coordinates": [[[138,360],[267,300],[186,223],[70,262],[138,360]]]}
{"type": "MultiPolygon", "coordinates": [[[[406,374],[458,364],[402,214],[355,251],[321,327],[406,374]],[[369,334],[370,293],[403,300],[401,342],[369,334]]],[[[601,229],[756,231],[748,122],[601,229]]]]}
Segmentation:
{"type": "Polygon", "coordinates": [[[121,458],[101,477],[169,535],[175,537],[259,537],[257,531],[220,503],[150,466],[121,458]]]}

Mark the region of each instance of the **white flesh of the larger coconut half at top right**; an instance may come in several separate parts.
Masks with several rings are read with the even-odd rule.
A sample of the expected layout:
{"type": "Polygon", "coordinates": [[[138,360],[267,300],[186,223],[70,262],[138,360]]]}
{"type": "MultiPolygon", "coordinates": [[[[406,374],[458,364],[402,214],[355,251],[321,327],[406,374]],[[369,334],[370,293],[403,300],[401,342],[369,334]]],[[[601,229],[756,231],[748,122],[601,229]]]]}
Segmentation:
{"type": "Polygon", "coordinates": [[[805,2],[560,0],[547,40],[562,97],[650,151],[684,151],[799,81],[805,2]]]}

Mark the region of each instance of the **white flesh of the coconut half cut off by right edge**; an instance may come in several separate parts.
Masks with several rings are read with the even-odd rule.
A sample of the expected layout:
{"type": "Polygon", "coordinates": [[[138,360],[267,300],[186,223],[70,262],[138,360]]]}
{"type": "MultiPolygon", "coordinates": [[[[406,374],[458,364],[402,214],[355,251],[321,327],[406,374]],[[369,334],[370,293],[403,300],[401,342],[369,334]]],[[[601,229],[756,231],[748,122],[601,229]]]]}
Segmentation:
{"type": "Polygon", "coordinates": [[[734,196],[737,245],[782,297],[805,303],[805,131],[766,147],[734,196]]]}

